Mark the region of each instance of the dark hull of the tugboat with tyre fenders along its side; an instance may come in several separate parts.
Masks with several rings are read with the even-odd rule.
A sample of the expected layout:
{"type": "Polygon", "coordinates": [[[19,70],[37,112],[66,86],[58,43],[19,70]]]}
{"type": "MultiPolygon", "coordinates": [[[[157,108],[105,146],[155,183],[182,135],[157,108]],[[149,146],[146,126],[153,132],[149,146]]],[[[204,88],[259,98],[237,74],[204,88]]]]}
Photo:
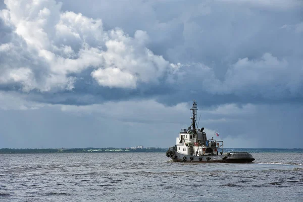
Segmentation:
{"type": "Polygon", "coordinates": [[[167,156],[174,162],[187,162],[187,163],[251,163],[255,161],[247,152],[231,152],[224,155],[204,155],[204,156],[191,156],[180,154],[177,151],[168,151],[167,156]]]}

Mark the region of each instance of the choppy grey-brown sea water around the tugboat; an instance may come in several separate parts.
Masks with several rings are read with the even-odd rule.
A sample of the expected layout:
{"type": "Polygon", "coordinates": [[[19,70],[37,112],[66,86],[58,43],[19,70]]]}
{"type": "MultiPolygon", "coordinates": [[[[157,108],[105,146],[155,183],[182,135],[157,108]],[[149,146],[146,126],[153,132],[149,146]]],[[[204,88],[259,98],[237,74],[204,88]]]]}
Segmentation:
{"type": "Polygon", "coordinates": [[[249,151],[254,163],[174,163],[165,153],[0,155],[0,201],[303,201],[302,149],[249,151]]]}

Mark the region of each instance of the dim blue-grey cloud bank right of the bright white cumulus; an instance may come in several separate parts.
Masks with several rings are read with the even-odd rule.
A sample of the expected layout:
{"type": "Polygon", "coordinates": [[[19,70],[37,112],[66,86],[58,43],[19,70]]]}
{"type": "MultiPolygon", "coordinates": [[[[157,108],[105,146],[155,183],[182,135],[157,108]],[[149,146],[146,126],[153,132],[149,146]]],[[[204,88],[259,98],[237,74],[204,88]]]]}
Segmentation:
{"type": "Polygon", "coordinates": [[[210,94],[254,95],[270,99],[303,95],[303,80],[300,79],[303,76],[303,61],[289,63],[270,53],[258,59],[239,59],[229,66],[222,79],[216,76],[213,68],[201,63],[182,65],[176,69],[176,75],[179,75],[181,83],[195,80],[195,89],[203,89],[210,94]]]}

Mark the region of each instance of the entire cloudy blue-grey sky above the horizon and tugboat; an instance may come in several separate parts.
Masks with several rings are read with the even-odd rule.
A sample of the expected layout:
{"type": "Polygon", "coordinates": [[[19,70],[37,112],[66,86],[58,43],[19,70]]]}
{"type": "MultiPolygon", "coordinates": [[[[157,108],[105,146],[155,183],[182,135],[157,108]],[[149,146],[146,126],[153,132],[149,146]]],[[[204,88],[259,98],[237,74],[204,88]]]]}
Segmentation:
{"type": "Polygon", "coordinates": [[[302,148],[301,0],[0,0],[0,148],[302,148]]]}

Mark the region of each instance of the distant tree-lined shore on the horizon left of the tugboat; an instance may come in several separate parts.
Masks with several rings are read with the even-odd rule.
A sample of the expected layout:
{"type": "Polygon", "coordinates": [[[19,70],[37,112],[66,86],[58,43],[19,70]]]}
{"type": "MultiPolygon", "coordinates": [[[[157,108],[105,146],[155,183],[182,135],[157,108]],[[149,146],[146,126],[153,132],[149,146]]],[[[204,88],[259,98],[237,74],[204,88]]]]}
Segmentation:
{"type": "Polygon", "coordinates": [[[130,152],[160,152],[168,148],[0,148],[0,154],[49,154],[49,153],[130,153],[130,152]]]}

